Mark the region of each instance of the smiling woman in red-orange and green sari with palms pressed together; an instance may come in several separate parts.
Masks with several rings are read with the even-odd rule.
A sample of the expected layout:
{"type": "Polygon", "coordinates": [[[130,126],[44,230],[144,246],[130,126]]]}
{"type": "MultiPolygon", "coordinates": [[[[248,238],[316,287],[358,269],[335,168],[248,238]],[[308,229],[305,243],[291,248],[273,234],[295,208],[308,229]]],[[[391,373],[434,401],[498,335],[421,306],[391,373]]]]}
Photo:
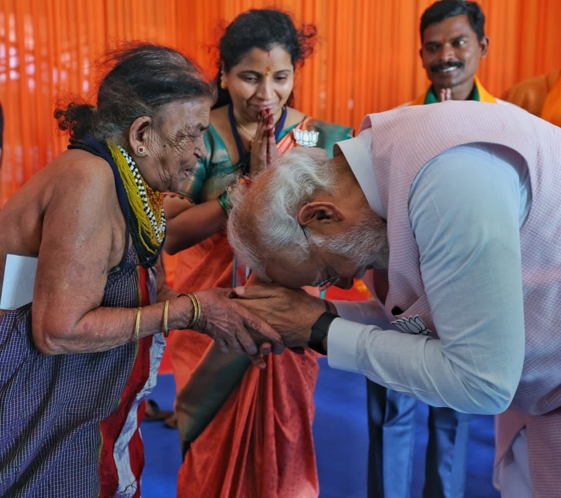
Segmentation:
{"type": "MultiPolygon", "coordinates": [[[[220,39],[207,154],[180,196],[164,201],[165,249],[182,251],[174,280],[181,292],[246,282],[246,268],[236,264],[224,230],[235,183],[268,174],[278,156],[300,146],[295,131],[314,132],[309,145],[328,153],[334,142],[351,136],[351,128],[291,107],[295,70],[311,53],[315,34],[313,26],[296,29],[284,12],[263,9],[240,14],[220,39]]],[[[314,353],[269,355],[262,375],[247,370],[247,358],[218,354],[200,334],[172,334],[169,346],[181,391],[177,421],[188,448],[178,496],[318,496],[310,450],[314,353]]]]}

